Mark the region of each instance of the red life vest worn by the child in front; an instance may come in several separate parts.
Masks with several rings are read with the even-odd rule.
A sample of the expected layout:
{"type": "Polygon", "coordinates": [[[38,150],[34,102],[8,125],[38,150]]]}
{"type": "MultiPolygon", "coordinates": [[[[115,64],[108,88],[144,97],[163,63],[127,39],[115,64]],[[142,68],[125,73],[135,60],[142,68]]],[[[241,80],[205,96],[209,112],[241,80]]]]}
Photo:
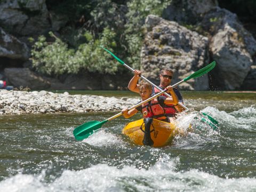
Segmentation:
{"type": "Polygon", "coordinates": [[[143,117],[153,117],[161,121],[168,121],[164,108],[159,104],[157,98],[141,105],[143,117]]]}

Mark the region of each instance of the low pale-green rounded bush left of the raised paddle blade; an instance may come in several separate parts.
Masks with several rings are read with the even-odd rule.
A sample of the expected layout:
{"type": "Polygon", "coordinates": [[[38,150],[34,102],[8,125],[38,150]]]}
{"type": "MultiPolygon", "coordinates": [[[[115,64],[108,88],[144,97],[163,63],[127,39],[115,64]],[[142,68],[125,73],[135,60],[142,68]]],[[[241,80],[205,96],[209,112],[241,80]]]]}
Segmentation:
{"type": "MultiPolygon", "coordinates": [[[[31,51],[33,67],[39,73],[58,76],[61,74],[77,74],[85,69],[90,72],[114,74],[117,64],[111,60],[111,55],[102,51],[98,45],[116,47],[115,33],[108,28],[103,30],[100,39],[81,44],[77,50],[68,49],[68,45],[50,33],[55,41],[51,44],[46,42],[44,36],[40,36],[31,51]]],[[[89,38],[89,34],[85,33],[89,38]]],[[[90,38],[89,38],[90,39],[90,38]]]]}

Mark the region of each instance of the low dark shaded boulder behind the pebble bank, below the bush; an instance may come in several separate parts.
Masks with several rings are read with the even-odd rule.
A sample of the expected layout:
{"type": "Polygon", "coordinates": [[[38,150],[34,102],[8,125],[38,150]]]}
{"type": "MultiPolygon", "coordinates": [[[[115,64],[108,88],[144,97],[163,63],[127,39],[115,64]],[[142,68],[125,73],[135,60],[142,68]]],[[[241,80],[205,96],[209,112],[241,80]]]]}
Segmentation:
{"type": "Polygon", "coordinates": [[[5,76],[8,84],[14,87],[29,87],[30,89],[48,89],[50,87],[49,81],[43,77],[30,71],[28,68],[5,68],[5,76]]]}

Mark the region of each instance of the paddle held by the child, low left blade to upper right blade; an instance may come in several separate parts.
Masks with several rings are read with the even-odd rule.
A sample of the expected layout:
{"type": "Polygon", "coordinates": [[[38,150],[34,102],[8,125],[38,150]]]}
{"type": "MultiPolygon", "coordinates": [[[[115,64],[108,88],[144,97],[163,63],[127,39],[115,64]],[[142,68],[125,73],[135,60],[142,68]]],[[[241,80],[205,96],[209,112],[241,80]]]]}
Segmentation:
{"type": "MultiPolygon", "coordinates": [[[[174,84],[172,87],[177,86],[177,85],[179,85],[179,84],[181,84],[181,83],[183,83],[183,82],[185,82],[185,81],[188,81],[188,80],[191,79],[191,78],[200,77],[200,76],[202,76],[202,75],[208,73],[210,70],[212,70],[212,69],[214,68],[214,66],[215,66],[215,62],[212,62],[212,63],[210,63],[209,65],[207,65],[206,67],[204,67],[204,68],[202,68],[202,69],[199,69],[199,70],[196,71],[195,73],[189,75],[189,76],[186,77],[185,79],[182,79],[182,81],[180,81],[180,82],[174,84]]],[[[146,103],[146,102],[148,102],[148,101],[150,101],[150,100],[152,100],[152,99],[158,97],[159,95],[165,93],[166,91],[167,91],[167,90],[165,89],[165,90],[163,90],[163,91],[161,91],[161,92],[159,92],[159,93],[153,95],[152,97],[150,97],[150,98],[148,98],[148,99],[146,99],[146,100],[144,100],[144,101],[141,101],[141,102],[138,103],[137,105],[130,107],[128,110],[131,110],[131,109],[134,109],[134,108],[136,108],[136,107],[139,107],[139,106],[141,106],[143,103],[146,103]]],[[[82,125],[79,125],[78,127],[76,127],[76,128],[74,129],[73,134],[74,134],[74,136],[75,136],[75,138],[76,138],[77,140],[83,140],[83,139],[85,139],[85,138],[88,138],[91,134],[93,134],[93,131],[96,131],[96,130],[100,129],[100,127],[101,127],[103,124],[107,123],[108,121],[110,121],[110,120],[112,120],[112,119],[114,119],[114,118],[117,118],[117,117],[121,116],[122,114],[123,114],[123,112],[120,112],[120,113],[118,113],[118,114],[116,114],[116,115],[114,115],[114,116],[112,116],[112,117],[109,117],[108,119],[105,119],[104,121],[101,121],[101,122],[99,122],[99,121],[91,121],[91,122],[87,122],[87,123],[84,123],[84,124],[82,124],[82,125]]]]}

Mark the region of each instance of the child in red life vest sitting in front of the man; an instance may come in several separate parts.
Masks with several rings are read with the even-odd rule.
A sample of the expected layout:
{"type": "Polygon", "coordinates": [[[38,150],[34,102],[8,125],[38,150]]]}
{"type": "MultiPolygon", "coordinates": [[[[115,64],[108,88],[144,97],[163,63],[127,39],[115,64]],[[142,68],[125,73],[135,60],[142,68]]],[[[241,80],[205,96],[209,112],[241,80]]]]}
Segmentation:
{"type": "MultiPolygon", "coordinates": [[[[145,81],[141,81],[139,83],[138,89],[139,89],[139,93],[140,93],[140,97],[141,97],[142,101],[150,98],[150,96],[152,94],[152,85],[151,84],[149,84],[148,82],[145,82],[145,81]]],[[[133,115],[135,115],[136,113],[138,113],[138,111],[140,111],[143,114],[144,118],[156,118],[158,120],[165,121],[165,122],[173,121],[172,117],[168,118],[166,116],[164,106],[165,106],[165,104],[176,105],[179,102],[179,100],[178,100],[177,95],[173,91],[172,86],[167,86],[166,89],[168,90],[168,92],[171,93],[172,98],[158,96],[157,98],[154,98],[151,101],[146,102],[146,103],[142,104],[141,106],[131,109],[129,111],[126,108],[124,108],[122,110],[123,116],[125,118],[130,118],[133,115]]]]}

